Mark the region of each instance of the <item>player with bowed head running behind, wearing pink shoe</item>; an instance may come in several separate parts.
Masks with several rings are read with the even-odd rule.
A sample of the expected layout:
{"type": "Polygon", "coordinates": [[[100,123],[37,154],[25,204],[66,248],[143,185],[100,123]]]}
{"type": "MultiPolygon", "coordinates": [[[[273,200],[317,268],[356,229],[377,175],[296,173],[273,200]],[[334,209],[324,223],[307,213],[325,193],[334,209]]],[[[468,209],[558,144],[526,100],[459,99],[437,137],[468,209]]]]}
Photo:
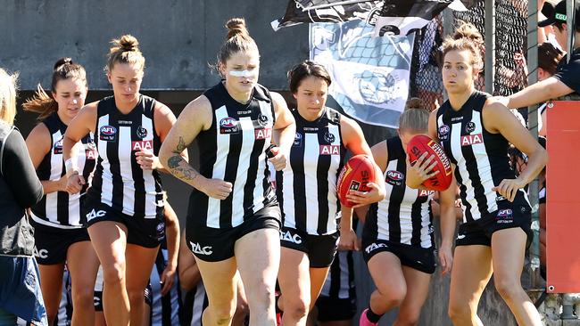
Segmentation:
{"type": "MultiPolygon", "coordinates": [[[[434,157],[424,153],[410,167],[407,143],[427,134],[429,113],[412,101],[399,119],[398,135],[373,146],[373,157],[385,177],[386,198],[369,209],[362,235],[362,255],[377,289],[369,308],[360,314],[360,325],[377,325],[383,314],[396,307],[394,325],[417,325],[435,273],[435,241],[431,203],[435,192],[420,186],[435,175],[434,157]],[[418,189],[420,188],[420,189],[418,189]]],[[[455,183],[439,194],[442,241],[439,260],[442,274],[452,268],[455,232],[455,183]]],[[[356,201],[356,199],[353,199],[356,201]]],[[[366,208],[357,209],[360,216],[366,208]]]]}

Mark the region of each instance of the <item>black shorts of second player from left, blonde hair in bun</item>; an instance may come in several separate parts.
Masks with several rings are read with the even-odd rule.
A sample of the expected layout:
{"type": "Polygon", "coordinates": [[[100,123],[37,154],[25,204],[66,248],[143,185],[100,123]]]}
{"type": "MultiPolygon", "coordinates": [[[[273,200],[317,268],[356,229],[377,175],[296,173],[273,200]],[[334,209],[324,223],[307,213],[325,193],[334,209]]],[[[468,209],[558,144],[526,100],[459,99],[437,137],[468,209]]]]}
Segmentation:
{"type": "Polygon", "coordinates": [[[155,248],[165,236],[165,217],[155,216],[145,218],[144,216],[128,216],[120,211],[111,208],[102,202],[85,201],[85,216],[87,216],[87,227],[101,222],[118,222],[127,227],[127,243],[145,248],[155,248]]]}

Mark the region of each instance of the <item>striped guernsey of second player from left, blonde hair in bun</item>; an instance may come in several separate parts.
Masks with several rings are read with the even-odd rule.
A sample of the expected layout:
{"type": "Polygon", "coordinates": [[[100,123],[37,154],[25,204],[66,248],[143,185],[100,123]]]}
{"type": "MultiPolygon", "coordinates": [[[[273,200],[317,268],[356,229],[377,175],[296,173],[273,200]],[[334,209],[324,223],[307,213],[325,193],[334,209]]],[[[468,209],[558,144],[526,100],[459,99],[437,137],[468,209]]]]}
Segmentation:
{"type": "Polygon", "coordinates": [[[88,198],[128,216],[154,218],[163,214],[162,181],[157,170],[137,164],[137,151],[159,155],[155,131],[155,100],[140,95],[137,106],[122,114],[112,96],[98,102],[95,143],[99,158],[88,198]]]}

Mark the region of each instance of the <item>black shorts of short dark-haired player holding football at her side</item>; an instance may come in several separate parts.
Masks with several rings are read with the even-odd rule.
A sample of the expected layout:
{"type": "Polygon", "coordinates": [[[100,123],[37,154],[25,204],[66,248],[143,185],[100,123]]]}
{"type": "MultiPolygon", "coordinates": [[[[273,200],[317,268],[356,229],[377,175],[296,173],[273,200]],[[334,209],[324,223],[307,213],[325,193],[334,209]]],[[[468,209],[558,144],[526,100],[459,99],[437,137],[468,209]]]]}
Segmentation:
{"type": "Polygon", "coordinates": [[[280,246],[305,253],[311,262],[311,268],[332,265],[337,245],[338,232],[312,235],[286,226],[282,226],[280,230],[280,246]]]}

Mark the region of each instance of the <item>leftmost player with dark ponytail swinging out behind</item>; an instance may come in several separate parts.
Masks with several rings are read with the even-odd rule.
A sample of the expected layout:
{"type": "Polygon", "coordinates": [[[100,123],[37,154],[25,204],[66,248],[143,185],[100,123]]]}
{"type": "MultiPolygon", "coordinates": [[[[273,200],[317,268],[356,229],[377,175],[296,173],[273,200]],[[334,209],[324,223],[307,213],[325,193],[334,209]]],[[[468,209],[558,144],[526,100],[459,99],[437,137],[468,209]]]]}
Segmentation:
{"type": "MultiPolygon", "coordinates": [[[[72,280],[72,324],[95,322],[92,288],[99,261],[82,218],[87,184],[79,193],[69,194],[62,159],[62,137],[72,118],[85,105],[87,90],[85,69],[70,58],[62,58],[54,64],[52,97],[38,86],[37,94],[24,103],[24,110],[38,113],[42,121],[32,129],[26,144],[45,192],[43,199],[31,209],[30,223],[35,228],[41,288],[51,325],[61,302],[65,264],[72,280]]],[[[93,134],[85,135],[75,148],[79,173],[88,181],[96,159],[93,134]]]]}

